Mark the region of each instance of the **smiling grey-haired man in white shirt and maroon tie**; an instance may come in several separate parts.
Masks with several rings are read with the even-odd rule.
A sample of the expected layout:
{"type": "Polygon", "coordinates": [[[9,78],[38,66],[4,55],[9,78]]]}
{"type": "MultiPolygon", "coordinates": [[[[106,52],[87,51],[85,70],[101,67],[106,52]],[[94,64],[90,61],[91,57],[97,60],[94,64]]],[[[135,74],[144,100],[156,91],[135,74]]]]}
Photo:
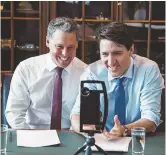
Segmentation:
{"type": "Polygon", "coordinates": [[[78,27],[69,18],[53,19],[47,29],[50,52],[16,68],[6,118],[14,129],[69,129],[85,63],[76,58],[78,27]]]}

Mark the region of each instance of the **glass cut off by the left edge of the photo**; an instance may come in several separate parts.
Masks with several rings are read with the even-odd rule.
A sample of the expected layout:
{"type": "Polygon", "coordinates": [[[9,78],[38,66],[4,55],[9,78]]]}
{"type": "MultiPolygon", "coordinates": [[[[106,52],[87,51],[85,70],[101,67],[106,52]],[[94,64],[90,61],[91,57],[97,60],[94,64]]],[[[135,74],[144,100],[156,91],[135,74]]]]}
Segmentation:
{"type": "Polygon", "coordinates": [[[1,124],[1,153],[6,152],[8,126],[1,124]]]}

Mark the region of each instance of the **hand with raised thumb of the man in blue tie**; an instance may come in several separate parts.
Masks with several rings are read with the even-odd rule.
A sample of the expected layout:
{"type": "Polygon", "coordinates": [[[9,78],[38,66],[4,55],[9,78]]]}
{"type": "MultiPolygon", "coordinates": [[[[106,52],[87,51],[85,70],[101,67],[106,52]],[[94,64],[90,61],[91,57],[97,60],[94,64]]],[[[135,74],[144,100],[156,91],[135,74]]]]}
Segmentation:
{"type": "Polygon", "coordinates": [[[118,115],[114,116],[114,122],[115,125],[110,132],[107,132],[106,130],[104,131],[104,135],[107,137],[107,139],[116,139],[123,135],[124,128],[121,126],[118,115]]]}

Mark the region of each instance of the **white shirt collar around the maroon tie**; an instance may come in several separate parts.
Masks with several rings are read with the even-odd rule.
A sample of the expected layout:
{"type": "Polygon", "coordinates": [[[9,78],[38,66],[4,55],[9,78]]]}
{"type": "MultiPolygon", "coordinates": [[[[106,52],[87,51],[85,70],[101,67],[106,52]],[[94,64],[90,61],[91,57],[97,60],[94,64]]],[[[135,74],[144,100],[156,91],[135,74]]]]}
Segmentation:
{"type": "MultiPolygon", "coordinates": [[[[71,73],[72,65],[73,65],[73,61],[72,61],[66,68],[64,68],[64,70],[65,70],[67,73],[69,73],[69,74],[71,73]]],[[[57,65],[56,65],[55,62],[52,60],[51,54],[48,53],[48,54],[47,54],[47,64],[46,64],[46,68],[47,68],[49,71],[52,71],[52,70],[54,70],[56,67],[57,67],[57,65]]]]}

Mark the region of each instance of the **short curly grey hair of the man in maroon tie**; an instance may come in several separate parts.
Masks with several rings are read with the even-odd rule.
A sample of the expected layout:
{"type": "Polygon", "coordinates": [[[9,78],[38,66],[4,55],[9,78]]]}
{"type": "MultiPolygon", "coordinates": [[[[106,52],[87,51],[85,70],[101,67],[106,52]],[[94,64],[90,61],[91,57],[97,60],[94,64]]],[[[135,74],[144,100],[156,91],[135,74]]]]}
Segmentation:
{"type": "Polygon", "coordinates": [[[56,30],[75,32],[78,41],[78,26],[75,21],[67,17],[58,17],[50,21],[47,28],[47,39],[50,39],[56,30]]]}

